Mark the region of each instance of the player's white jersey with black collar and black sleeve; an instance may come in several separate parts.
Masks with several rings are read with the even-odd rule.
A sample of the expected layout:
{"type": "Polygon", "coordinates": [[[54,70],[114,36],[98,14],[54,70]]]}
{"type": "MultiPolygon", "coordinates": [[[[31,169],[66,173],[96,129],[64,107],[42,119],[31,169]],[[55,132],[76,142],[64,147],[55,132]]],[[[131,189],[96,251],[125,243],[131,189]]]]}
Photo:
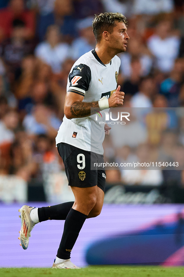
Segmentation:
{"type": "MultiPolygon", "coordinates": [[[[84,102],[99,101],[102,97],[109,98],[116,91],[119,67],[119,57],[113,57],[111,62],[105,65],[93,49],[74,63],[68,75],[67,92],[84,96],[84,102]]],[[[101,114],[105,115],[103,111],[101,114]]],[[[105,137],[105,123],[99,125],[99,121],[96,119],[96,114],[72,119],[64,116],[56,136],[56,145],[65,142],[86,151],[103,154],[102,142],[105,137]],[[93,134],[94,138],[91,139],[93,134]]],[[[101,121],[105,122],[102,118],[101,121]]]]}

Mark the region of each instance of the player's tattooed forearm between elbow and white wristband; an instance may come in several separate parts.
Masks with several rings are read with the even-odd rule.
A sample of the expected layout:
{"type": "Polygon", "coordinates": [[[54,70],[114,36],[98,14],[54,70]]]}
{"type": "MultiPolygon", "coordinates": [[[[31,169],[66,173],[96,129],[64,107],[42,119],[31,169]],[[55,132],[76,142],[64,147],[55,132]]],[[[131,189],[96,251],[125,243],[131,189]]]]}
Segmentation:
{"type": "Polygon", "coordinates": [[[97,108],[100,111],[98,106],[98,101],[96,102],[79,102],[76,101],[72,104],[70,111],[74,117],[85,117],[91,115],[91,108],[97,108]]]}

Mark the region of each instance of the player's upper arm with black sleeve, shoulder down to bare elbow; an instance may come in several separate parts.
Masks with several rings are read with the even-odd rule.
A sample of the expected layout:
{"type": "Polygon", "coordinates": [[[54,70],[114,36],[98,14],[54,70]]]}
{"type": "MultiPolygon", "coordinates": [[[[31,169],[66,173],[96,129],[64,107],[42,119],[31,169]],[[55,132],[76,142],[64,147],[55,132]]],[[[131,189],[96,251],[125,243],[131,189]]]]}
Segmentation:
{"type": "Polygon", "coordinates": [[[91,69],[85,64],[79,64],[73,67],[68,76],[69,88],[64,103],[64,114],[67,118],[72,118],[71,106],[76,101],[83,101],[86,91],[91,82],[91,69]]]}

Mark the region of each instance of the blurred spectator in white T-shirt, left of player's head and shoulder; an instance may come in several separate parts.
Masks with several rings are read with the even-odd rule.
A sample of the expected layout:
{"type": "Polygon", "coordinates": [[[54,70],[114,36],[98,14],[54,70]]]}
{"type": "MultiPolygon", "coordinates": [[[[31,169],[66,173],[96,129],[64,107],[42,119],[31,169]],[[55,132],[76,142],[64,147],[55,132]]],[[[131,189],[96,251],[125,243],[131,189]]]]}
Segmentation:
{"type": "Polygon", "coordinates": [[[61,42],[59,27],[51,25],[47,29],[46,41],[35,48],[35,56],[50,65],[54,73],[59,73],[68,51],[68,44],[61,42]]]}

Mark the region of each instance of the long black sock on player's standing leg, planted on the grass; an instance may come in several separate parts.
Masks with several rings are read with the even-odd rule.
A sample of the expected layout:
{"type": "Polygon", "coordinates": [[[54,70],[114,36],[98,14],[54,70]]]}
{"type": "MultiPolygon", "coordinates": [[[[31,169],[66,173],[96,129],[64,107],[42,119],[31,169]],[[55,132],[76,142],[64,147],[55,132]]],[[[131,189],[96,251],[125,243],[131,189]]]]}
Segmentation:
{"type": "Polygon", "coordinates": [[[73,245],[78,238],[78,234],[86,218],[87,215],[71,208],[65,220],[63,236],[57,253],[58,258],[65,260],[70,259],[73,245]]]}

